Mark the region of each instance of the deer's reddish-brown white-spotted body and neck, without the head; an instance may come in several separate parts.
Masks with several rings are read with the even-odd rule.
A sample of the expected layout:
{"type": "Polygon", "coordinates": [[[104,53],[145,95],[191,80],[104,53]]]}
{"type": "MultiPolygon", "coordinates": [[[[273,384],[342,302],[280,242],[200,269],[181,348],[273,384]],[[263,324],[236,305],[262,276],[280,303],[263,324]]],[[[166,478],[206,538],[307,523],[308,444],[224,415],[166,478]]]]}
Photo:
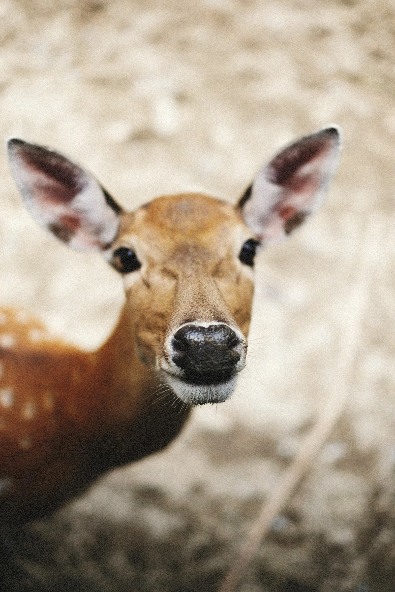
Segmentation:
{"type": "Polygon", "coordinates": [[[190,406],[156,401],[158,382],[133,356],[126,311],[93,353],[46,339],[24,311],[1,317],[0,343],[14,340],[0,349],[5,522],[47,513],[107,469],[159,451],[187,419],[190,406]]]}

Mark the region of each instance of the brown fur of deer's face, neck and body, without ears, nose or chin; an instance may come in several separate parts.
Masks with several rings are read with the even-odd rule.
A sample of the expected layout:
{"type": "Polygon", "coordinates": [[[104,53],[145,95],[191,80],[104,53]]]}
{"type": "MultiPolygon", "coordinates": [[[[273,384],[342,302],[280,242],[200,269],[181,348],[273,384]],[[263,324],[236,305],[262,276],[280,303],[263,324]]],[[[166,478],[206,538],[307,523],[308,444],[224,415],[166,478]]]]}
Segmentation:
{"type": "Polygon", "coordinates": [[[0,406],[0,482],[11,480],[3,482],[4,520],[40,516],[178,433],[190,407],[172,404],[168,387],[160,398],[160,374],[150,368],[166,356],[166,336],[188,321],[221,321],[247,336],[253,282],[237,256],[251,236],[239,210],[205,195],[162,197],[121,214],[111,248],[136,251],[141,279],[126,289],[117,327],[95,353],[32,342],[28,332],[43,327],[4,311],[0,337],[15,339],[0,350],[0,389],[14,393],[11,406],[0,406]]]}

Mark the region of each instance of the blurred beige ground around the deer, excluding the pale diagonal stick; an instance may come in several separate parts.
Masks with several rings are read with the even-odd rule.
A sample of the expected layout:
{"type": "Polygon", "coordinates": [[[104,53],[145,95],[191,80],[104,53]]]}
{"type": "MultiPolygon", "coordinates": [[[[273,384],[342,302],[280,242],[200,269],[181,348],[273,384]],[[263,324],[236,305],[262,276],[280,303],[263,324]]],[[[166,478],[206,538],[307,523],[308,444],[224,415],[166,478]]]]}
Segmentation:
{"type": "MultiPolygon", "coordinates": [[[[393,592],[394,2],[2,0],[0,19],[2,141],[56,147],[125,208],[196,189],[235,202],[283,144],[329,123],[344,132],[322,211],[256,263],[232,400],[28,527],[9,590],[216,590],[340,389],[342,420],[240,590],[393,592]],[[341,371],[344,343],[355,363],[341,371]]],[[[38,229],[4,152],[0,169],[0,303],[97,348],[123,303],[119,276],[38,229]]]]}

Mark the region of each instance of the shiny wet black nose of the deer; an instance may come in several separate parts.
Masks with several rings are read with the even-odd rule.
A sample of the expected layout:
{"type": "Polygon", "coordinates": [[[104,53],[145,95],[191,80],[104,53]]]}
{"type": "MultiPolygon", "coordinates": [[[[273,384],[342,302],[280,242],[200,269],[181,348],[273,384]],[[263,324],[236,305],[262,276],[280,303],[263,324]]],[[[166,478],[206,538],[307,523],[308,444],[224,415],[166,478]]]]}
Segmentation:
{"type": "Polygon", "coordinates": [[[184,379],[194,384],[218,384],[236,374],[241,340],[225,324],[185,325],[172,339],[173,362],[184,370],[184,379]]]}

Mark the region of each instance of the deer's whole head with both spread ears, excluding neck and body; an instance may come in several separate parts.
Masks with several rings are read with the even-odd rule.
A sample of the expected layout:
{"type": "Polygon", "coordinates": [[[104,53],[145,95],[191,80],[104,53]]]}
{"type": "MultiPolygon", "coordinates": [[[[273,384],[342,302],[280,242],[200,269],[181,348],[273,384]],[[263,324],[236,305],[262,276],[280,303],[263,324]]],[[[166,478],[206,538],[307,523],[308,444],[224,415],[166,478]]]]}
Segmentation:
{"type": "Polygon", "coordinates": [[[236,207],[182,194],[126,213],[65,156],[8,143],[28,209],[60,240],[102,252],[123,275],[138,355],[192,404],[232,394],[245,366],[255,250],[317,210],[339,149],[336,127],[290,144],[259,170],[236,207]]]}

